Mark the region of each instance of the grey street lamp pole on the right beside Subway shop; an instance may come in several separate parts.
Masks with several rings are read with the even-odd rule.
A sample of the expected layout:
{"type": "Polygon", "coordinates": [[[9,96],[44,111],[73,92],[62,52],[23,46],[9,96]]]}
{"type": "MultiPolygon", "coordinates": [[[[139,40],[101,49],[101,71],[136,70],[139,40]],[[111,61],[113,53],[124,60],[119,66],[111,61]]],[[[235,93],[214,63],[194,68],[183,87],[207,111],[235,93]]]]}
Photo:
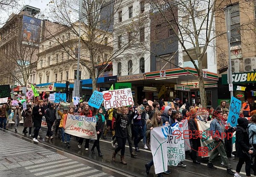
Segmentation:
{"type": "Polygon", "coordinates": [[[231,32],[230,32],[230,22],[231,22],[231,7],[224,8],[225,11],[225,21],[226,21],[226,28],[227,28],[227,43],[228,43],[228,84],[230,90],[230,97],[233,96],[233,81],[232,81],[232,67],[231,67],[231,51],[230,51],[230,39],[231,39],[231,32]]]}

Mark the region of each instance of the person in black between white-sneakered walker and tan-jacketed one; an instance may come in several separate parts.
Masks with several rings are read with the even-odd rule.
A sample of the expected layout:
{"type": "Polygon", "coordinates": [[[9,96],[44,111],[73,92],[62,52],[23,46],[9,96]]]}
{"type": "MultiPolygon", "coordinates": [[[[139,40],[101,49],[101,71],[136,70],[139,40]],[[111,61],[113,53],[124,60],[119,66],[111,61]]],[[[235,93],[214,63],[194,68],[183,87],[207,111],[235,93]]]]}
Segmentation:
{"type": "Polygon", "coordinates": [[[45,121],[47,122],[47,133],[45,138],[50,140],[54,138],[52,135],[52,125],[54,121],[56,120],[56,115],[55,115],[55,109],[53,108],[53,103],[49,104],[49,108],[45,111],[45,121]]]}

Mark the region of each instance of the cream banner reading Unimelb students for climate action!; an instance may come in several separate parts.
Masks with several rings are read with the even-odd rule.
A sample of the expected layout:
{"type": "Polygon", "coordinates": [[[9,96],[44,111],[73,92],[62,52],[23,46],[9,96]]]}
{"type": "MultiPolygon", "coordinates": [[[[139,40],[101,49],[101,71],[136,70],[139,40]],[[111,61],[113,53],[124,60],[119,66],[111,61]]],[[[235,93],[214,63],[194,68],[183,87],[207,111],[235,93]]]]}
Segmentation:
{"type": "Polygon", "coordinates": [[[68,114],[65,133],[96,140],[96,117],[68,114]]]}

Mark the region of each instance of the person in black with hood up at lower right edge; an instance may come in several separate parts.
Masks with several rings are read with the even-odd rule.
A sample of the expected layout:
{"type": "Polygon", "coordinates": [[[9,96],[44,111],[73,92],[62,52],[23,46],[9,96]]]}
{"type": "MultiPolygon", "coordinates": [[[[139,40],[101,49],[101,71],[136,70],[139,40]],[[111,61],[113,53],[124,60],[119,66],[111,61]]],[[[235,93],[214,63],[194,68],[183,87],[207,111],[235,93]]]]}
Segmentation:
{"type": "Polygon", "coordinates": [[[239,157],[239,161],[236,165],[236,173],[234,177],[241,177],[239,175],[241,168],[245,162],[245,172],[246,176],[250,177],[250,167],[253,166],[252,160],[250,160],[249,154],[253,154],[250,150],[249,135],[246,131],[248,126],[248,121],[246,118],[237,119],[237,129],[236,129],[236,156],[239,157]]]}

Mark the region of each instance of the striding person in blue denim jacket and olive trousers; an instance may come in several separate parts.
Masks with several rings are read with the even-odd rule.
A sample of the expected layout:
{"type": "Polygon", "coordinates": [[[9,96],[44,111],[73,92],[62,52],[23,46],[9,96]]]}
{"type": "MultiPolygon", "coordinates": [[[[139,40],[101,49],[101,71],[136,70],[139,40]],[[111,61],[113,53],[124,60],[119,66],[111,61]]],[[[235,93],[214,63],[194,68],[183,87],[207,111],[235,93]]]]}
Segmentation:
{"type": "Polygon", "coordinates": [[[221,155],[221,160],[224,164],[224,166],[227,169],[228,174],[234,175],[234,172],[231,170],[231,165],[228,161],[227,154],[225,151],[225,143],[223,140],[223,133],[225,133],[225,128],[223,123],[221,122],[222,117],[222,111],[216,110],[213,115],[215,115],[215,118],[210,124],[210,131],[212,132],[212,139],[213,139],[213,151],[209,157],[209,162],[207,163],[207,167],[211,169],[217,169],[215,166],[213,166],[213,160],[215,157],[217,157],[219,154],[221,155]]]}

